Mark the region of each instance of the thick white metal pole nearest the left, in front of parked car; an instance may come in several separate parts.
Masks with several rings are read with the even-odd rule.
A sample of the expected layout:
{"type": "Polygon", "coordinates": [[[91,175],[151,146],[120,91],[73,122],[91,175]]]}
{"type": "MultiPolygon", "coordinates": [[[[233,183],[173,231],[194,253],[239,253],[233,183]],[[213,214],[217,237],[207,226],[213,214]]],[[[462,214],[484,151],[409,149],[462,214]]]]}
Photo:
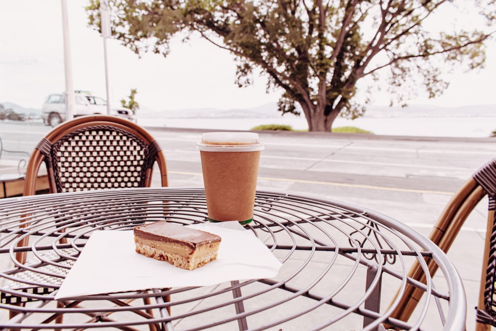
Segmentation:
{"type": "Polygon", "coordinates": [[[74,118],[75,96],[72,84],[72,60],[70,56],[69,23],[67,19],[67,3],[62,0],[62,33],[63,33],[63,54],[65,67],[65,120],[74,118]]]}

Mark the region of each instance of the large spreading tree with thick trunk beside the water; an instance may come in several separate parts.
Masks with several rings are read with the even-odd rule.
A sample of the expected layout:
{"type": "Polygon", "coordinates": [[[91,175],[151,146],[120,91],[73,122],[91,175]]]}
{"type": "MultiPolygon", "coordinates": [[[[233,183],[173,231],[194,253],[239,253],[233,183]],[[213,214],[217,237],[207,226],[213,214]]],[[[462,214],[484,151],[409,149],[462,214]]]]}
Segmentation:
{"type": "MultiPolygon", "coordinates": [[[[438,96],[448,85],[444,68],[484,65],[496,21],[496,0],[110,0],[110,5],[113,36],[137,54],[167,56],[174,36],[199,33],[235,55],[240,87],[252,83],[254,68],[261,69],[268,90],[282,89],[282,114],[299,113],[299,105],[310,131],[332,131],[338,115],[363,115],[377,88],[386,88],[391,105],[405,105],[421,86],[429,97],[438,96]],[[443,8],[455,5],[464,6],[455,12],[480,15],[487,25],[447,22],[441,31],[427,28],[443,17],[443,8]],[[362,81],[367,86],[360,95],[366,97],[360,100],[362,81]]],[[[98,7],[99,0],[87,7],[95,29],[98,7]]]]}

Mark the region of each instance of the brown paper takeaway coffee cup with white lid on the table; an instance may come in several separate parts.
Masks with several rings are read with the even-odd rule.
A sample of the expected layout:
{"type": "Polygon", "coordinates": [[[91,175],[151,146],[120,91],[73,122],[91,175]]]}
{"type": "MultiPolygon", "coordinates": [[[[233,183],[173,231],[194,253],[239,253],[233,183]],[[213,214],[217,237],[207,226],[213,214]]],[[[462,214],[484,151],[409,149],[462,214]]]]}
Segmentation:
{"type": "Polygon", "coordinates": [[[252,132],[203,133],[200,150],[208,219],[211,222],[253,219],[260,151],[252,132]]]}

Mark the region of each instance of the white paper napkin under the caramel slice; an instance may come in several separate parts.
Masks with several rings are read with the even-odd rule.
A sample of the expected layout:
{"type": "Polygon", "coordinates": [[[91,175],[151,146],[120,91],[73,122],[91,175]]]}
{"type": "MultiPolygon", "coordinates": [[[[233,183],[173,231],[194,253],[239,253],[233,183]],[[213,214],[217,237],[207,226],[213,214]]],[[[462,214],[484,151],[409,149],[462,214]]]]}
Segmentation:
{"type": "Polygon", "coordinates": [[[282,266],[270,250],[237,221],[188,226],[222,238],[217,260],[194,270],[184,270],[136,253],[132,231],[95,231],[55,298],[271,278],[282,266]]]}

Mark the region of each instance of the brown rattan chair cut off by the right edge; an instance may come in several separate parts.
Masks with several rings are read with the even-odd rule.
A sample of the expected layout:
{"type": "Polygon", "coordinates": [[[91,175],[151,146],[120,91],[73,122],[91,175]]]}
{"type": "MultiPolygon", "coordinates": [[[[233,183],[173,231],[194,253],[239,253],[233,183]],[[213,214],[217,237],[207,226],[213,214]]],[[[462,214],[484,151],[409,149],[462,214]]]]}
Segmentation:
{"type": "MultiPolygon", "coordinates": [[[[494,301],[496,300],[496,159],[475,172],[452,196],[429,237],[444,252],[447,252],[469,214],[486,195],[489,199],[489,211],[477,305],[477,331],[489,331],[491,326],[496,327],[496,302],[494,301]]],[[[437,265],[431,260],[427,260],[427,263],[431,275],[434,275],[437,265]]],[[[426,281],[425,273],[418,262],[412,265],[408,275],[424,283],[426,281]]],[[[420,301],[423,291],[407,285],[405,293],[398,306],[395,307],[392,318],[407,321],[420,301]]]]}

